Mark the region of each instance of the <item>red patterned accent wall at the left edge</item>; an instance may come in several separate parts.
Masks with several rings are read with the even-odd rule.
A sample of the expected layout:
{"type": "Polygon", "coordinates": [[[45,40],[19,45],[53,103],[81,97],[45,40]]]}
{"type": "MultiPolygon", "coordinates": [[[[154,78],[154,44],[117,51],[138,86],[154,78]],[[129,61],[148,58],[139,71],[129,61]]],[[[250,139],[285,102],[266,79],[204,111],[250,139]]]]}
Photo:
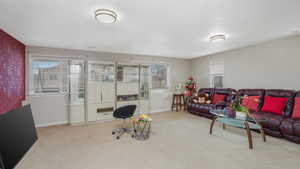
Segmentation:
{"type": "Polygon", "coordinates": [[[25,98],[25,45],[0,29],[0,114],[25,98]]]}

